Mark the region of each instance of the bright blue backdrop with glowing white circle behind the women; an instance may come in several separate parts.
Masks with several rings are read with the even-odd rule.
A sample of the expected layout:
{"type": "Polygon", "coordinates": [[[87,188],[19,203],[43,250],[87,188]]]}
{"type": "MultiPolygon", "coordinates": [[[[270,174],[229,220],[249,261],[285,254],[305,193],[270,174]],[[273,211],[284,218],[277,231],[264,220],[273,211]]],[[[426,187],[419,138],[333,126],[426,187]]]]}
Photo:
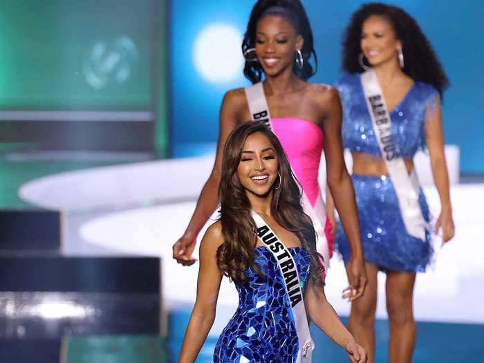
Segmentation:
{"type": "MultiPolygon", "coordinates": [[[[319,69],[313,82],[340,74],[341,41],[351,13],[364,1],[304,0],[319,69]]],[[[171,151],[214,150],[223,93],[247,85],[240,44],[255,1],[171,1],[171,151]]],[[[484,173],[484,7],[478,0],[391,1],[416,18],[451,81],[444,98],[447,143],[461,149],[460,170],[484,173]]]]}

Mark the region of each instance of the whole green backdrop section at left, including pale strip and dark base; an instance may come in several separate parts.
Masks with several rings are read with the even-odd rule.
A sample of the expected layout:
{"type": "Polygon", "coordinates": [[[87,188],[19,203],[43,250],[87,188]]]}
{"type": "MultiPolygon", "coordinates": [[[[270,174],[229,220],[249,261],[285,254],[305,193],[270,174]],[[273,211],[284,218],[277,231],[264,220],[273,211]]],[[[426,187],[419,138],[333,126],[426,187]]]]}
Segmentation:
{"type": "Polygon", "coordinates": [[[0,142],[165,147],[166,15],[165,0],[3,0],[0,142]]]}

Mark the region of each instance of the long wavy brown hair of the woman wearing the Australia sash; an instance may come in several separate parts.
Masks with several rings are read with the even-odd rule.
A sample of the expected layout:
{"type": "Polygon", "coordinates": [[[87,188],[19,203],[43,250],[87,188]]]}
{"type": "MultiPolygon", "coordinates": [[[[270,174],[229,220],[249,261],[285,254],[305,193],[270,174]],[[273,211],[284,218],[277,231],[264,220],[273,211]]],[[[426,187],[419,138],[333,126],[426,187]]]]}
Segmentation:
{"type": "Polygon", "coordinates": [[[310,277],[322,285],[321,273],[324,267],[319,261],[322,256],[316,251],[313,222],[301,207],[301,191],[292,174],[286,153],[277,137],[263,122],[251,121],[241,124],[230,133],[225,142],[221,183],[218,189],[221,201],[220,221],[225,241],[217,250],[218,268],[235,283],[245,283],[247,268],[253,268],[263,276],[254,263],[257,226],[251,216],[250,201],[237,174],[243,145],[252,133],[263,133],[269,139],[279,164],[280,187],[272,191],[271,214],[279,225],[298,236],[301,245],[310,254],[310,277]]]}

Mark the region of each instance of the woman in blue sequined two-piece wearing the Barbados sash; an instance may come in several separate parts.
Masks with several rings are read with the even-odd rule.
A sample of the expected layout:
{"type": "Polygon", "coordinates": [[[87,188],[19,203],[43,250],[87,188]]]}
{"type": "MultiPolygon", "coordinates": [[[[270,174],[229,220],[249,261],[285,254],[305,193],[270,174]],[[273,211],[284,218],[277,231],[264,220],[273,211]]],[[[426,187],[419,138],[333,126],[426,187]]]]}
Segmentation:
{"type": "MultiPolygon", "coordinates": [[[[354,13],[344,39],[347,73],[337,84],[343,105],[344,147],[353,155],[353,186],[369,286],[352,302],[348,327],[375,357],[377,272],[387,274],[389,362],[410,362],[416,325],[412,301],[416,272],[431,261],[431,236],[454,236],[444,155],[440,100],[447,77],[418,24],[395,6],[369,3],[354,13]],[[429,207],[413,171],[427,148],[441,212],[429,227],[429,207]]],[[[348,261],[348,241],[336,243],[348,261]]]]}

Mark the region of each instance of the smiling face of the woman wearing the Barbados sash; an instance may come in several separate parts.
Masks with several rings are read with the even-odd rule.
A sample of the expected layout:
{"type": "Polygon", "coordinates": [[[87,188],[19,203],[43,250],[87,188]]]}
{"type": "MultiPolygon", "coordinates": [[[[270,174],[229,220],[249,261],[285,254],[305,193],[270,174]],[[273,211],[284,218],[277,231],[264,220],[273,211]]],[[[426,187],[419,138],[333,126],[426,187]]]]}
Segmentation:
{"type": "Polygon", "coordinates": [[[387,18],[371,15],[363,22],[360,47],[371,66],[379,66],[398,62],[398,49],[402,48],[402,42],[387,18]]]}

